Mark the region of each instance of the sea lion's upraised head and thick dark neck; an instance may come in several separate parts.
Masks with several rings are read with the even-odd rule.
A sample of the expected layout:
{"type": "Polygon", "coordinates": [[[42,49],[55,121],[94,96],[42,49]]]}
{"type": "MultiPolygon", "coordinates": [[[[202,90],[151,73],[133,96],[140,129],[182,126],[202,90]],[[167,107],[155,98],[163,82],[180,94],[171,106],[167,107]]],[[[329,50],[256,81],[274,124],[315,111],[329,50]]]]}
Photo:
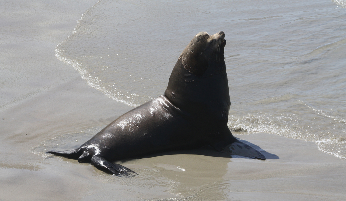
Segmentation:
{"type": "Polygon", "coordinates": [[[227,122],[230,107],[225,33],[198,33],[176,62],[165,96],[197,117],[227,122]]]}

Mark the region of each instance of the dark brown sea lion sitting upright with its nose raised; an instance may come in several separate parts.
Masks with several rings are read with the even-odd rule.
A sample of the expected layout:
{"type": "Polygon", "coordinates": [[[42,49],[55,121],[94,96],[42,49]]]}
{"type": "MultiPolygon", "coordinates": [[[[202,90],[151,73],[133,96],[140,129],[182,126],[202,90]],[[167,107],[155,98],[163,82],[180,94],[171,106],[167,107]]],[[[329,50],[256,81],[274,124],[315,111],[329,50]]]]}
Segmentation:
{"type": "Polygon", "coordinates": [[[198,33],[181,53],[164,95],[121,115],[80,148],[48,151],[115,175],[132,170],[111,161],[210,145],[221,152],[265,159],[227,126],[230,99],[225,33],[198,33]]]}

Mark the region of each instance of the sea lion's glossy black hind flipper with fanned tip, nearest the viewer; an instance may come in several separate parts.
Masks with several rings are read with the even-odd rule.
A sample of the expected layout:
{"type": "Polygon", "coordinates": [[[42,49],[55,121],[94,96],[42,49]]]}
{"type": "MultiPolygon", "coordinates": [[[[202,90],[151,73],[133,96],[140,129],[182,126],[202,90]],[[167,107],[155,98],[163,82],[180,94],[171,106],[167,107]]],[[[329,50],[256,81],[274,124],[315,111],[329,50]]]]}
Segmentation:
{"type": "Polygon", "coordinates": [[[97,168],[106,169],[117,176],[132,177],[133,174],[131,174],[131,173],[137,174],[136,172],[134,172],[134,171],[132,171],[132,170],[120,165],[120,164],[111,163],[111,162],[107,161],[105,158],[101,157],[100,155],[94,155],[91,158],[91,164],[97,168]]]}

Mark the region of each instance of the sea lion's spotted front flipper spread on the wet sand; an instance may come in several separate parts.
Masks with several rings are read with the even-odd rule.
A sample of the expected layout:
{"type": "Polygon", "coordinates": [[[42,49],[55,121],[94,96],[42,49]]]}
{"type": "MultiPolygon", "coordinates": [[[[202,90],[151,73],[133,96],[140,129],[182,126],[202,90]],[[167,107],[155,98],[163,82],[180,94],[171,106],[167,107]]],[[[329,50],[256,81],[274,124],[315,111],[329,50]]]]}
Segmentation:
{"type": "Polygon", "coordinates": [[[260,151],[239,140],[227,145],[221,152],[230,153],[232,155],[240,155],[253,159],[265,160],[265,156],[260,151]]]}

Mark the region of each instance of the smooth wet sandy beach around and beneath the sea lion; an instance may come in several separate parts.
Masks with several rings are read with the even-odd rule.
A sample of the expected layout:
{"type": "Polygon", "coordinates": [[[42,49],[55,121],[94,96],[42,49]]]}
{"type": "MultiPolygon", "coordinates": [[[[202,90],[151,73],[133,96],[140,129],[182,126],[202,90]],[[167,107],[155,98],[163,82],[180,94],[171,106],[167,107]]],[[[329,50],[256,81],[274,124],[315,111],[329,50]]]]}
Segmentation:
{"type": "Polygon", "coordinates": [[[57,44],[95,3],[1,3],[1,201],[346,200],[346,160],[314,142],[269,133],[234,133],[262,150],[265,161],[228,158],[209,147],[118,161],[138,173],[134,178],[44,155],[45,148],[60,145],[52,139],[69,134],[88,140],[133,109],[91,88],[55,56],[57,44]]]}

